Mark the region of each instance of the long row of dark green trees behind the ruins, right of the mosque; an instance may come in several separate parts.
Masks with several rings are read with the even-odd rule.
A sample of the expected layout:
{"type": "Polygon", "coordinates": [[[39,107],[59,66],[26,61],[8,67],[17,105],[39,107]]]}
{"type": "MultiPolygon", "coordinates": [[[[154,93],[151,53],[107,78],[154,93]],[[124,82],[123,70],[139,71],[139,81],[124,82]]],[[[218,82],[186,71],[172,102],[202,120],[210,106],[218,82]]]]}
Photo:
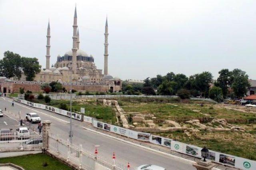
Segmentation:
{"type": "Polygon", "coordinates": [[[122,92],[130,95],[178,95],[182,99],[189,97],[210,97],[215,101],[222,101],[232,89],[230,97],[241,98],[246,95],[250,87],[248,75],[241,69],[222,69],[219,77],[214,81],[212,73],[204,71],[187,77],[173,72],[166,75],[147,77],[144,83],[123,82],[122,92]]]}

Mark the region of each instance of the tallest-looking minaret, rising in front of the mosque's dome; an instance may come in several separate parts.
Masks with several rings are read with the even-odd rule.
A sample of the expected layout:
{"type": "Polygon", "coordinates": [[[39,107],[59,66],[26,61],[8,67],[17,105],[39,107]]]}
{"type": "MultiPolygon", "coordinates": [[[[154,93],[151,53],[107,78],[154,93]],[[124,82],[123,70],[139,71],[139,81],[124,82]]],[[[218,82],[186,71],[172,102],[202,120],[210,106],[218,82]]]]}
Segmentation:
{"type": "Polygon", "coordinates": [[[73,48],[72,48],[72,71],[74,74],[76,74],[76,51],[77,51],[77,16],[76,16],[76,8],[75,8],[75,14],[74,14],[74,24],[73,24],[73,48]]]}

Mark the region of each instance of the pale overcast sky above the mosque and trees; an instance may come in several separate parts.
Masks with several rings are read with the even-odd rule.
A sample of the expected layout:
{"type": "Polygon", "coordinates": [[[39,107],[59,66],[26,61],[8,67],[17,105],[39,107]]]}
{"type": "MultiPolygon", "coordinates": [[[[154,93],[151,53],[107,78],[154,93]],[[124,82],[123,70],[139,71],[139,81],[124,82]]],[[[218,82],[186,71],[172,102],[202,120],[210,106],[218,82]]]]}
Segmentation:
{"type": "Polygon", "coordinates": [[[108,72],[145,79],[168,72],[187,76],[240,68],[256,79],[255,0],[0,0],[0,59],[4,51],[50,65],[72,48],[77,6],[80,49],[104,68],[108,16],[108,72]]]}

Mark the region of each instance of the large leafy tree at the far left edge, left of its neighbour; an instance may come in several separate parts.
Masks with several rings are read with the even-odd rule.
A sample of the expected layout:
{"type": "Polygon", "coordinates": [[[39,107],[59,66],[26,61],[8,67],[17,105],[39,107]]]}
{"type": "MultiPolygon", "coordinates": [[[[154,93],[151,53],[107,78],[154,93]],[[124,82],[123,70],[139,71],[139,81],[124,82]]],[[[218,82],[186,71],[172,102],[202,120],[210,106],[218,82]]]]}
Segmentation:
{"type": "Polygon", "coordinates": [[[21,57],[17,53],[11,51],[4,52],[4,58],[0,60],[0,75],[7,78],[16,76],[21,77],[21,57]]]}

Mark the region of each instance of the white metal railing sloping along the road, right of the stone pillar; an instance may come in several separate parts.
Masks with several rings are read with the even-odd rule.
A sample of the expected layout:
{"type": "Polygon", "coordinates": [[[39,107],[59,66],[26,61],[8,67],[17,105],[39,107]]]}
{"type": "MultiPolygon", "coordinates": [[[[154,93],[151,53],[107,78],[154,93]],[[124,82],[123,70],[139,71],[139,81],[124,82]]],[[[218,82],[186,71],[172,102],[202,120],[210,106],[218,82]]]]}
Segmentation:
{"type": "Polygon", "coordinates": [[[73,162],[82,169],[88,170],[135,170],[135,168],[127,168],[126,165],[115,163],[114,160],[99,157],[93,152],[85,150],[82,144],[70,144],[68,140],[62,140],[58,136],[50,134],[49,150],[60,154],[66,160],[73,162]]]}

